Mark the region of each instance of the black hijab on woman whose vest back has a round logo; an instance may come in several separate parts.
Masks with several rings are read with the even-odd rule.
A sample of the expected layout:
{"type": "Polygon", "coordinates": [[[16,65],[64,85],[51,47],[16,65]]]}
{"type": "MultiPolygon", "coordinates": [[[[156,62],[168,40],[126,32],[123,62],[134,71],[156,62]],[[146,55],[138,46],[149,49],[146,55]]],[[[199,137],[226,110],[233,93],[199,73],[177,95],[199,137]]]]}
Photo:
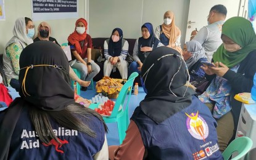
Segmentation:
{"type": "Polygon", "coordinates": [[[187,108],[192,102],[192,95],[196,94],[184,86],[188,80],[186,63],[179,52],[169,47],[153,50],[143,63],[141,75],[147,95],[139,106],[157,124],[187,108]]]}

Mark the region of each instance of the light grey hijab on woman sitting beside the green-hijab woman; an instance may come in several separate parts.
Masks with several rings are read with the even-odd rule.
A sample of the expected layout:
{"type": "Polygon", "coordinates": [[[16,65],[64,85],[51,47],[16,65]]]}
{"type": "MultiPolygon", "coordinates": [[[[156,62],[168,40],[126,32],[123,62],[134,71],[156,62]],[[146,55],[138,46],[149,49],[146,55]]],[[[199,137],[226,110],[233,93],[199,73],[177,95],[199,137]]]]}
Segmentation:
{"type": "Polygon", "coordinates": [[[186,42],[187,50],[192,54],[192,56],[186,60],[188,69],[194,65],[200,58],[206,58],[205,50],[198,41],[188,41],[186,42]]]}

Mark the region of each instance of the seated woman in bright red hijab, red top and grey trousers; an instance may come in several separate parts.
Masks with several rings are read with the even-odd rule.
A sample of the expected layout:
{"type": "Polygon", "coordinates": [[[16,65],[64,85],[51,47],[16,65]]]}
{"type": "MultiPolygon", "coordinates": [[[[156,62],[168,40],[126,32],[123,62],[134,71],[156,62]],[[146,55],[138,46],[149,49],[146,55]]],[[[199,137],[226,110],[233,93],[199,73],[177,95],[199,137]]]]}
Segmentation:
{"type": "MultiPolygon", "coordinates": [[[[86,20],[84,18],[76,20],[75,31],[68,36],[68,44],[70,44],[72,51],[70,66],[80,71],[83,81],[91,81],[101,68],[91,59],[93,41],[91,36],[86,33],[86,30],[86,20]]],[[[86,89],[86,87],[81,87],[81,90],[86,89]]]]}

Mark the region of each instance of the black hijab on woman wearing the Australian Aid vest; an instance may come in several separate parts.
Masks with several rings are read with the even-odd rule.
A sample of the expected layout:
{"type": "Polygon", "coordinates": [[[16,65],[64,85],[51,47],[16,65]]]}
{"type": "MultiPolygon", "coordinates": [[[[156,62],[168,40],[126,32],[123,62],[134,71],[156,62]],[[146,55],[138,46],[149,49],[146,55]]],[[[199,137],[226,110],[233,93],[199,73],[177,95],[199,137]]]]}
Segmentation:
{"type": "Polygon", "coordinates": [[[51,41],[38,41],[22,50],[19,74],[19,82],[22,84],[21,98],[16,98],[9,108],[2,111],[5,114],[0,124],[0,159],[8,157],[12,134],[23,107],[60,111],[75,103],[68,71],[68,60],[64,51],[51,41]]]}

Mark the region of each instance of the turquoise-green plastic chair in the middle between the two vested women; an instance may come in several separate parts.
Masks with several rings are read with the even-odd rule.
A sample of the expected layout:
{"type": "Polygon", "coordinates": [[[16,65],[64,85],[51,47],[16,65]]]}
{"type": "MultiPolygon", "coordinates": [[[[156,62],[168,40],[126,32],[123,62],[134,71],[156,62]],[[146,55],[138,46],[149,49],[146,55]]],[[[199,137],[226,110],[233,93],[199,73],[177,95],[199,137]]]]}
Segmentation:
{"type": "MultiPolygon", "coordinates": [[[[115,106],[113,108],[111,115],[109,117],[103,117],[105,123],[117,122],[120,144],[123,143],[123,140],[125,139],[125,135],[126,135],[125,131],[128,129],[128,125],[129,125],[128,105],[130,102],[131,89],[133,87],[133,82],[138,75],[139,74],[137,72],[134,72],[131,74],[131,76],[128,78],[128,80],[125,82],[122,89],[120,90],[120,93],[118,94],[117,101],[115,102],[115,106]],[[126,100],[125,110],[123,110],[125,98],[128,92],[129,94],[126,100]],[[121,107],[121,110],[119,110],[120,107],[121,107]]],[[[99,106],[99,103],[92,103],[91,105],[89,105],[89,108],[94,110],[98,106],[99,106]]]]}

